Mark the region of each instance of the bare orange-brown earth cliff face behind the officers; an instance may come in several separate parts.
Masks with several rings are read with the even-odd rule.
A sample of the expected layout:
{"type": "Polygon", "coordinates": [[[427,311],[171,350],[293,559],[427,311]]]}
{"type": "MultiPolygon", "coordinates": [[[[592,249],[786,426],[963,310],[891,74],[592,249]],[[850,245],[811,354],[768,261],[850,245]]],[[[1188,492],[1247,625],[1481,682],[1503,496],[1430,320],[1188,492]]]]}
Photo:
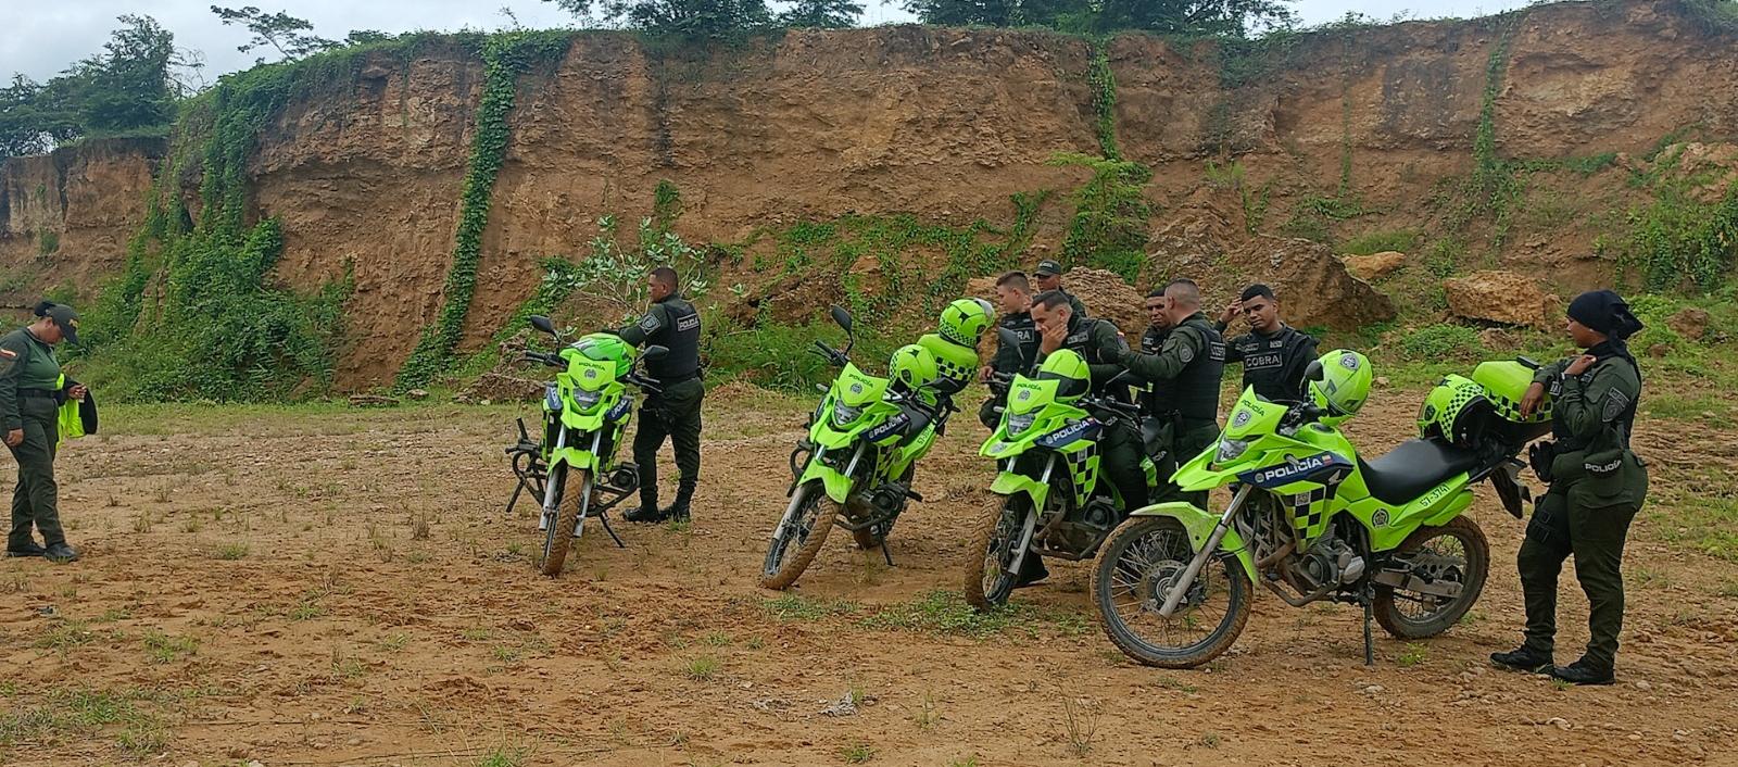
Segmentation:
{"type": "MultiPolygon", "coordinates": [[[[1147,197],[1158,210],[1152,263],[1135,287],[1187,275],[1211,306],[1260,280],[1281,290],[1300,327],[1389,317],[1387,299],[1335,254],[1250,233],[1279,231],[1333,191],[1331,179],[1345,179],[1340,191],[1366,209],[1392,210],[1373,214],[1392,221],[1343,226],[1418,226],[1432,184],[1472,167],[1488,64],[1503,40],[1509,68],[1491,108],[1505,157],[1639,157],[1691,123],[1708,137],[1738,134],[1738,89],[1708,85],[1738,82],[1738,40],[1670,0],[1305,35],[1251,64],[1260,77],[1229,85],[1208,43],[1119,37],[1105,47],[1112,123],[1123,155],[1154,169],[1147,197]],[[1237,162],[1241,203],[1239,191],[1201,195],[1208,158],[1237,162]]],[[[1027,30],[798,30],[680,56],[648,54],[631,35],[580,35],[556,66],[520,80],[462,351],[483,346],[535,290],[541,259],[584,252],[603,214],[647,214],[659,179],[681,188],[678,230],[690,242],[740,242],[756,228],[852,212],[1005,226],[1012,195],[1085,181],[1078,167],[1051,165],[1055,153],[1100,153],[1091,59],[1081,38],[1027,30]]],[[[337,384],[368,388],[391,379],[441,306],[483,77],[473,50],[431,43],[408,61],[382,50],[341,80],[264,127],[252,205],[283,219],[276,270],[287,283],[315,287],[353,264],[353,341],[337,384]]],[[[165,151],[89,143],[7,160],[5,282],[24,285],[21,297],[63,282],[94,292],[122,263],[165,151]],[[40,252],[43,233],[57,235],[52,257],[40,252]]],[[[1686,150],[1693,167],[1733,157],[1729,143],[1686,150]]],[[[1609,188],[1602,209],[1634,202],[1622,183],[1573,183],[1609,188]]],[[[1057,195],[1036,217],[1034,245],[1057,254],[1069,216],[1057,195]]],[[[1606,266],[1550,261],[1589,250],[1599,231],[1587,219],[1571,210],[1547,247],[1516,238],[1498,261],[1550,268],[1564,290],[1592,287],[1606,266]]],[[[744,271],[726,264],[714,283],[747,282],[744,271]]],[[[805,301],[780,311],[799,313],[805,301]]]]}

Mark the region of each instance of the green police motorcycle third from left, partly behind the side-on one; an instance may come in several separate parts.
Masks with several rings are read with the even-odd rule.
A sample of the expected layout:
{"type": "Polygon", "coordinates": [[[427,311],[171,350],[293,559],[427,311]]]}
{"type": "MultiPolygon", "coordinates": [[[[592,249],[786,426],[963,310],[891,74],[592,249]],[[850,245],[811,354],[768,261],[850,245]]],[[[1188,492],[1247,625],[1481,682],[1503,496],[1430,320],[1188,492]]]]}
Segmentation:
{"type": "MultiPolygon", "coordinates": [[[[1005,339],[1013,343],[1017,339],[1005,339]]],[[[1008,404],[978,450],[996,461],[996,480],[978,527],[966,544],[963,591],[972,607],[1008,602],[1031,557],[1091,558],[1123,518],[1116,484],[1102,480],[1098,440],[1105,430],[1138,424],[1147,487],[1158,489],[1156,459],[1164,447],[1158,421],[1138,407],[1093,397],[1086,360],[1058,350],[1031,377],[1008,383],[1008,404]]]]}

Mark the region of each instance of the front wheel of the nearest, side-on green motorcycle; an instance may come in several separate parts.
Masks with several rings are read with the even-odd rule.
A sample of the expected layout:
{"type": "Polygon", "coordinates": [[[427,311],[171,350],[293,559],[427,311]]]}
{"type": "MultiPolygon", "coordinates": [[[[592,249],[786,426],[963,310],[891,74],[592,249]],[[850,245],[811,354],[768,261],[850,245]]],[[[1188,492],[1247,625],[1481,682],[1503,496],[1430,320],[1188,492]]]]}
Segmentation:
{"type": "Polygon", "coordinates": [[[1098,626],[1123,654],[1147,666],[1194,668],[1243,633],[1250,579],[1231,558],[1201,567],[1171,617],[1159,616],[1191,558],[1189,532],[1170,517],[1135,517],[1098,550],[1091,570],[1098,626]]]}

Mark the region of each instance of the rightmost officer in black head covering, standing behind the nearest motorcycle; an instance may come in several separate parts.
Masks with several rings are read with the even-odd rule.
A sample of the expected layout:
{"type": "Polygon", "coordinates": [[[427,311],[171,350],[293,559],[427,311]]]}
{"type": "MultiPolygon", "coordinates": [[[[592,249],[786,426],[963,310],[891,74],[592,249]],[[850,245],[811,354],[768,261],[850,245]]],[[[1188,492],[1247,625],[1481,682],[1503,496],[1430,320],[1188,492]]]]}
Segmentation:
{"type": "Polygon", "coordinates": [[[1611,290],[1569,303],[1568,332],[1585,353],[1538,370],[1521,412],[1538,410],[1552,393],[1554,442],[1538,445],[1533,468],[1550,489],[1540,497],[1516,565],[1526,602],[1526,640],[1491,661],[1524,671],[1550,671],[1578,685],[1608,685],[1623,628],[1623,539],[1648,496],[1648,468],[1630,450],[1641,367],[1625,339],[1641,320],[1611,290]],[[1587,652],[1556,666],[1557,574],[1575,555],[1575,577],[1587,593],[1587,652]]]}

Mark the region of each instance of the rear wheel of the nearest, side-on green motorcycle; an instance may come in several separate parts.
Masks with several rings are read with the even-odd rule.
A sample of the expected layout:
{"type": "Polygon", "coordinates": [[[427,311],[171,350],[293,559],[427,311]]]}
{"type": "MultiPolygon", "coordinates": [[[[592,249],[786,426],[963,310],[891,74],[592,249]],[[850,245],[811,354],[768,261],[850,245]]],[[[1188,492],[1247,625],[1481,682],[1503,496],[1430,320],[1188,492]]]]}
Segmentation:
{"type": "Polygon", "coordinates": [[[1394,557],[1401,558],[1418,555],[1434,555],[1437,562],[1427,576],[1460,583],[1460,595],[1441,602],[1439,597],[1408,595],[1378,584],[1371,605],[1376,623],[1397,638],[1429,638],[1453,628],[1479,600],[1491,570],[1491,544],[1479,524],[1467,517],[1455,517],[1441,527],[1420,527],[1394,550],[1394,557]]]}

